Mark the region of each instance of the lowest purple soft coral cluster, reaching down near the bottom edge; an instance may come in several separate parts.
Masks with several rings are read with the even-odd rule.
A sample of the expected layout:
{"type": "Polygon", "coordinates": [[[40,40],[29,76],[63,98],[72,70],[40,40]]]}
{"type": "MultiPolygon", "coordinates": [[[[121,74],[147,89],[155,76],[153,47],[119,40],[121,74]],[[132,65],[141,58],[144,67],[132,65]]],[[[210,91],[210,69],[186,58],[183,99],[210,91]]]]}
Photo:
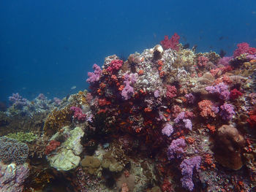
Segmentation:
{"type": "Polygon", "coordinates": [[[201,157],[195,156],[193,158],[184,159],[181,162],[181,183],[184,188],[187,188],[189,191],[192,191],[194,188],[194,183],[192,181],[192,175],[194,168],[198,171],[200,168],[201,157]]]}

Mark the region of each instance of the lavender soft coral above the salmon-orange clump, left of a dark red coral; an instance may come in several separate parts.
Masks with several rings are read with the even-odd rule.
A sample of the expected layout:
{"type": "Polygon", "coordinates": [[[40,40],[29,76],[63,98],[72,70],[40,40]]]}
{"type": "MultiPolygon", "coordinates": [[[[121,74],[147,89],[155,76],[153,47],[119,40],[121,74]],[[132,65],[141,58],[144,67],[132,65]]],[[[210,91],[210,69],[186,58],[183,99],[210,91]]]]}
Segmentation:
{"type": "Polygon", "coordinates": [[[217,93],[219,95],[219,99],[223,99],[225,101],[230,99],[230,91],[228,91],[227,85],[223,82],[218,85],[206,87],[206,91],[209,93],[217,93]]]}

